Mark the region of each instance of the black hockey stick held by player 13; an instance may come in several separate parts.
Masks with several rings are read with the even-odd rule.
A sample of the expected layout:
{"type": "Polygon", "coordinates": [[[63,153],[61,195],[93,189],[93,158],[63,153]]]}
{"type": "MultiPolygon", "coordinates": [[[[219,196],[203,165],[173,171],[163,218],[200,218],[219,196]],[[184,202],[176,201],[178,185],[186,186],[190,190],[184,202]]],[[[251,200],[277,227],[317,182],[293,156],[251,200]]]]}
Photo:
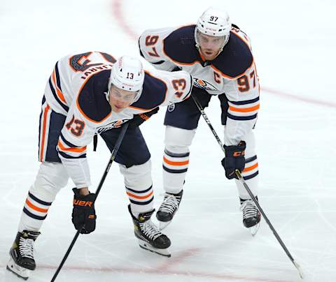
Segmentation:
{"type": "MultiPolygon", "coordinates": [[[[105,179],[106,179],[106,176],[107,176],[107,174],[108,174],[108,172],[109,172],[109,170],[110,170],[110,168],[111,168],[111,165],[112,165],[114,159],[115,159],[116,156],[117,156],[117,153],[118,153],[120,144],[121,144],[121,142],[123,141],[123,138],[124,138],[124,136],[125,136],[125,133],[126,133],[126,131],[127,131],[128,126],[129,126],[129,123],[126,122],[126,123],[123,125],[123,127],[121,128],[121,131],[120,131],[120,133],[119,133],[119,136],[118,136],[118,139],[117,139],[117,141],[116,141],[116,144],[114,145],[114,148],[113,148],[113,150],[112,150],[112,152],[111,152],[111,158],[109,159],[109,163],[106,165],[106,169],[105,169],[105,171],[104,171],[104,175],[102,176],[102,179],[100,179],[98,188],[97,188],[97,190],[96,190],[96,193],[95,193],[95,194],[96,194],[96,200],[97,200],[97,197],[98,197],[98,194],[99,194],[100,190],[102,189],[102,186],[103,186],[104,181],[105,181],[105,179]]],[[[62,259],[62,262],[59,264],[59,267],[57,268],[57,270],[56,270],[54,276],[52,276],[52,279],[51,279],[50,282],[54,282],[55,279],[57,278],[57,275],[59,274],[59,271],[62,269],[62,267],[63,267],[63,265],[64,265],[64,262],[66,261],[66,258],[68,258],[69,253],[71,252],[71,249],[73,248],[73,245],[76,243],[76,240],[77,240],[79,234],[80,234],[80,229],[77,230],[76,235],[73,237],[72,242],[71,242],[71,244],[70,244],[68,250],[66,251],[66,253],[65,253],[65,255],[64,255],[64,258],[62,259]]]]}

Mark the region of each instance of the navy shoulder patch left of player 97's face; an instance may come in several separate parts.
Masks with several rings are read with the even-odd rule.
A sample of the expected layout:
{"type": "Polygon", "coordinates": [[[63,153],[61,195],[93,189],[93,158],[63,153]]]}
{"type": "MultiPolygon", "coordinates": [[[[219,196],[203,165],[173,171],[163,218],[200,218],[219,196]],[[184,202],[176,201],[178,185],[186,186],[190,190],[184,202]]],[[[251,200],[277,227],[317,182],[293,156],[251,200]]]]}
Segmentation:
{"type": "Polygon", "coordinates": [[[175,29],[163,40],[163,50],[169,59],[181,64],[200,61],[195,47],[195,24],[175,29]]]}

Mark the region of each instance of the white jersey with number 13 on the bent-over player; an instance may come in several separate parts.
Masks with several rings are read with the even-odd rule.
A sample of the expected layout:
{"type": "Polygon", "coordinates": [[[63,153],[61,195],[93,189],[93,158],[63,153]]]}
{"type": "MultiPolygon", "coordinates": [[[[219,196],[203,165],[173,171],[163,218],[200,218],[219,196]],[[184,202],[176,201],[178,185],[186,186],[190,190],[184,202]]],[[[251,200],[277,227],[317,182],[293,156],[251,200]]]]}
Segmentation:
{"type": "Polygon", "coordinates": [[[179,103],[190,96],[193,83],[189,73],[145,71],[139,100],[122,112],[112,112],[106,92],[115,61],[102,52],[71,54],[57,61],[45,87],[48,105],[66,116],[57,151],[77,188],[90,185],[86,148],[94,134],[118,128],[134,114],[179,103]]]}

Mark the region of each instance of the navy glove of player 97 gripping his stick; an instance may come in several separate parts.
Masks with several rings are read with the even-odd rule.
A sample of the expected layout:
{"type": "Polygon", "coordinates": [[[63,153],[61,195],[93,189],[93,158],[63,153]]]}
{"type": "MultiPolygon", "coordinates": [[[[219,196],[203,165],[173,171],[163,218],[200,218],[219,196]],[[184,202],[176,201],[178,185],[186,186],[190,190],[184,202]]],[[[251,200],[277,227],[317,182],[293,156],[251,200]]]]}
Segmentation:
{"type": "Polygon", "coordinates": [[[225,146],[225,158],[222,160],[225,169],[225,177],[228,179],[238,178],[235,170],[240,172],[245,168],[245,141],[240,141],[237,146],[225,146]]]}

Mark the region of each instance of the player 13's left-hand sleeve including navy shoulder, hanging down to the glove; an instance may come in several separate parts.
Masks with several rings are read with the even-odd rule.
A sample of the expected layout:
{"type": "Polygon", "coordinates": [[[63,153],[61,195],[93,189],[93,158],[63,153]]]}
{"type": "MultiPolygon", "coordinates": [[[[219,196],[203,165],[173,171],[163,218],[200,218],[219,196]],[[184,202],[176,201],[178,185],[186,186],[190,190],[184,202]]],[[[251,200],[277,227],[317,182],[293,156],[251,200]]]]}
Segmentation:
{"type": "MultiPolygon", "coordinates": [[[[102,89],[106,75],[101,72],[83,82],[71,103],[57,144],[62,164],[77,188],[90,186],[90,170],[86,159],[87,144],[92,142],[97,126],[111,112],[102,89]]],[[[75,82],[73,82],[75,83],[75,82]]]]}

